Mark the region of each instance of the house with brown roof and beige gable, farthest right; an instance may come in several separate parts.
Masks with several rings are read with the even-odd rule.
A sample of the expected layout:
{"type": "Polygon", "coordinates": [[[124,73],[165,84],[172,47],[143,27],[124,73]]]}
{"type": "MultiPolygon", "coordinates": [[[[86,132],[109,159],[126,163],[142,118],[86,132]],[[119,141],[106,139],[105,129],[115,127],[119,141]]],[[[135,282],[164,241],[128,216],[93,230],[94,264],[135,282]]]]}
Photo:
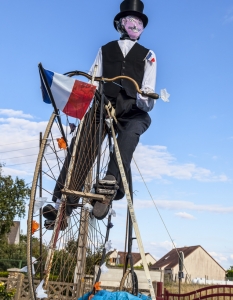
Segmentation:
{"type": "Polygon", "coordinates": [[[224,280],[226,271],[200,245],[172,249],[159,259],[151,270],[163,270],[164,274],[171,274],[173,280],[179,272],[178,253],[184,253],[184,278],[206,278],[209,280],[224,280]]]}

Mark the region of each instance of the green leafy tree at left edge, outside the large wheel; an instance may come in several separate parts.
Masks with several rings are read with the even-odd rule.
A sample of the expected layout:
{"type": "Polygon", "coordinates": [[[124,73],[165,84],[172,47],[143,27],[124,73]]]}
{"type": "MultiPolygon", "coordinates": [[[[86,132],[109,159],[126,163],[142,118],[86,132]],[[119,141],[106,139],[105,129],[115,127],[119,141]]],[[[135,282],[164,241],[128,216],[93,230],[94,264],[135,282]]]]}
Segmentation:
{"type": "Polygon", "coordinates": [[[25,199],[29,195],[25,181],[4,176],[0,164],[0,239],[10,232],[15,217],[25,217],[25,199]]]}

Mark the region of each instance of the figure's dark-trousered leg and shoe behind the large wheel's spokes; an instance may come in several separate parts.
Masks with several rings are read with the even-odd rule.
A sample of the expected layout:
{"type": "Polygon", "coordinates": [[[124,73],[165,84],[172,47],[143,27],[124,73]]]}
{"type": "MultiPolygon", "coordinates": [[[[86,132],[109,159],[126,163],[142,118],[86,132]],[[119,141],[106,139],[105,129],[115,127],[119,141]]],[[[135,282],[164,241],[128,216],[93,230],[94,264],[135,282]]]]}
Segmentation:
{"type": "MultiPolygon", "coordinates": [[[[77,135],[77,149],[75,154],[75,167],[72,171],[71,181],[67,187],[70,190],[82,191],[87,175],[97,157],[99,147],[99,102],[94,103],[89,112],[85,115],[83,126],[77,135]]],[[[106,135],[105,126],[103,127],[102,141],[106,135]]],[[[68,152],[63,168],[60,172],[56,182],[52,201],[55,202],[55,209],[52,205],[46,205],[43,208],[43,215],[46,219],[55,220],[57,210],[59,208],[62,193],[64,188],[66,175],[68,172],[71,155],[76,137],[74,137],[70,144],[70,151],[68,152]]],[[[73,208],[78,204],[79,198],[67,196],[66,201],[66,215],[71,215],[73,208]]]]}

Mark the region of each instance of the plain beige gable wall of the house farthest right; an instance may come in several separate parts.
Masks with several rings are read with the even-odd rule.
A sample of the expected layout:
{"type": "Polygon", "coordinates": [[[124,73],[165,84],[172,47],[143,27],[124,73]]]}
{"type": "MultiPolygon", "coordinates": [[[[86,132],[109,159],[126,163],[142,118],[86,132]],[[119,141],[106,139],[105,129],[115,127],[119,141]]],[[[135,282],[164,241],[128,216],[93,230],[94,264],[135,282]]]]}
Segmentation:
{"type": "MultiPolygon", "coordinates": [[[[183,270],[184,276],[188,273],[191,280],[194,278],[206,278],[209,280],[224,280],[225,270],[213,260],[201,247],[197,248],[187,258],[184,259],[187,271],[183,270]],[[207,277],[206,277],[207,276],[207,277]]],[[[178,274],[179,266],[173,268],[173,275],[178,274]]]]}

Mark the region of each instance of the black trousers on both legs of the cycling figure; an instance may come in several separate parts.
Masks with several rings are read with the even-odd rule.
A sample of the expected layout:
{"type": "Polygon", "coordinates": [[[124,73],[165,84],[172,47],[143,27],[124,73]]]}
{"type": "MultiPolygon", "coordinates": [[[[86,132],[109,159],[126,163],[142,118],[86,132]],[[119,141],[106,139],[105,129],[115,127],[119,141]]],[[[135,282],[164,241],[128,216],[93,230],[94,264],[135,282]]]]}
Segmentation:
{"type": "MultiPolygon", "coordinates": [[[[130,164],[133,153],[137,147],[140,136],[149,128],[151,119],[148,113],[140,110],[136,106],[136,100],[127,96],[125,91],[121,91],[116,98],[107,97],[116,110],[116,118],[118,126],[116,126],[117,143],[121,153],[122,162],[125,168],[126,176],[129,174],[130,164]]],[[[75,169],[73,178],[71,178],[69,189],[82,191],[85,179],[90,171],[98,154],[99,147],[99,102],[96,108],[92,108],[84,117],[84,125],[79,139],[76,157],[75,169]],[[84,141],[85,139],[85,141],[84,141]]],[[[106,136],[106,126],[103,126],[102,140],[106,136]]],[[[72,153],[75,138],[70,144],[70,153],[72,153]]],[[[61,189],[64,186],[68,166],[71,156],[68,153],[63,168],[60,172],[58,180],[54,188],[52,200],[56,202],[57,198],[61,198],[61,189]]],[[[120,200],[124,197],[124,187],[121,181],[116,156],[111,155],[107,174],[113,175],[118,182],[119,189],[115,200],[120,200]]],[[[72,205],[77,204],[78,198],[67,198],[67,214],[72,212],[72,205]]]]}

